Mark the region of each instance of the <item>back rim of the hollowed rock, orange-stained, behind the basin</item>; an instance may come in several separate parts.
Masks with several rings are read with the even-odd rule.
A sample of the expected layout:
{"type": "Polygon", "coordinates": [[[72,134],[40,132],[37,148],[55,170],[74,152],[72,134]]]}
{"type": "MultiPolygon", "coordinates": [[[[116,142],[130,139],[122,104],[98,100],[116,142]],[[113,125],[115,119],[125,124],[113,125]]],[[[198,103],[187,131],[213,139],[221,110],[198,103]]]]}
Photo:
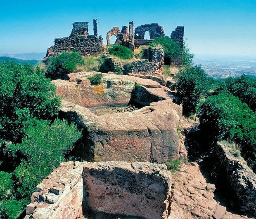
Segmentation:
{"type": "MultiPolygon", "coordinates": [[[[156,101],[176,98],[173,92],[157,82],[129,75],[103,73],[102,83],[92,86],[88,77],[98,73],[100,72],[70,73],[68,75],[69,81],[57,79],[52,81],[52,84],[55,84],[57,95],[61,96],[63,100],[83,107],[128,105],[135,89],[135,84],[143,86],[144,93],[151,93],[151,96],[154,96],[156,101]]],[[[153,101],[152,98],[151,100],[147,99],[149,96],[147,98],[144,96],[139,98],[137,95],[137,98],[138,103],[144,100],[145,104],[143,105],[149,105],[153,101]]]]}

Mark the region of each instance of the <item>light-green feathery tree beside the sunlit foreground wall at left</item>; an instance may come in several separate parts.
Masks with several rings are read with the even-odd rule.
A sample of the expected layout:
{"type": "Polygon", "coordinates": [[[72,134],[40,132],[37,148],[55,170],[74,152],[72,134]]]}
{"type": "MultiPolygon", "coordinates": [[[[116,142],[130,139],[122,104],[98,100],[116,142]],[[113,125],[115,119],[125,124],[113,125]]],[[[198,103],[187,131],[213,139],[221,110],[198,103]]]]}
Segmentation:
{"type": "Polygon", "coordinates": [[[12,151],[19,151],[25,156],[14,171],[19,179],[17,191],[21,196],[33,192],[42,179],[65,161],[65,154],[80,137],[81,132],[73,123],[68,125],[59,119],[52,124],[47,120],[34,121],[34,125],[27,128],[22,142],[9,146],[12,151]]]}

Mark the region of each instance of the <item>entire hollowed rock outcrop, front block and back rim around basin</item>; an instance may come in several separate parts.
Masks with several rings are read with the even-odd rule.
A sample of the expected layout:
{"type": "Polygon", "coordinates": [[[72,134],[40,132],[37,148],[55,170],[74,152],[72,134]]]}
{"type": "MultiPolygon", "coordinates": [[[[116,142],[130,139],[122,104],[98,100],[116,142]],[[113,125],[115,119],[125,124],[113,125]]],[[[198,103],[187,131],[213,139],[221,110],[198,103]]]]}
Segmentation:
{"type": "Polygon", "coordinates": [[[88,77],[97,72],[69,74],[69,81],[55,80],[62,96],[60,117],[83,130],[74,156],[87,161],[150,161],[164,163],[187,158],[180,133],[182,106],[175,93],[150,79],[104,74],[92,86],[88,77]],[[92,107],[133,102],[145,106],[132,112],[97,116],[92,107]],[[175,102],[175,103],[174,103],[175,102]]]}

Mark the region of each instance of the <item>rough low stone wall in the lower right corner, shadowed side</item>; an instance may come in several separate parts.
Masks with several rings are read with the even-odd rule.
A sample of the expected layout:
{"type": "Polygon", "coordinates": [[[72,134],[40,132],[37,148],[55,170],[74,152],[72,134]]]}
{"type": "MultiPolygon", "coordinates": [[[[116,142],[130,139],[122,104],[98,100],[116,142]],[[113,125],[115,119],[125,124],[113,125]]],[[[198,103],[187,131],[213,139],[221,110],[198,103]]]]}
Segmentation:
{"type": "Polygon", "coordinates": [[[230,188],[237,194],[241,210],[250,211],[256,216],[256,174],[242,157],[236,158],[230,153],[231,148],[226,142],[218,142],[214,150],[230,188]]]}

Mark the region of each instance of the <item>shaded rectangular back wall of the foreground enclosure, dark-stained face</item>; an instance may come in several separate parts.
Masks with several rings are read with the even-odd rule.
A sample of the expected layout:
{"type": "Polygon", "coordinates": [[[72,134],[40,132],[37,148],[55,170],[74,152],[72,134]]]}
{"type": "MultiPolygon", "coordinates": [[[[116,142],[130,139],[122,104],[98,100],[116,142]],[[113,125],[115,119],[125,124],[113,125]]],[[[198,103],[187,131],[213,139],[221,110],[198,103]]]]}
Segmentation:
{"type": "MultiPolygon", "coordinates": [[[[152,163],[88,163],[83,170],[90,214],[167,219],[171,210],[171,178],[166,165],[152,163]]],[[[90,218],[89,214],[89,218],[90,218]]],[[[124,217],[121,217],[124,218],[124,217]]]]}

